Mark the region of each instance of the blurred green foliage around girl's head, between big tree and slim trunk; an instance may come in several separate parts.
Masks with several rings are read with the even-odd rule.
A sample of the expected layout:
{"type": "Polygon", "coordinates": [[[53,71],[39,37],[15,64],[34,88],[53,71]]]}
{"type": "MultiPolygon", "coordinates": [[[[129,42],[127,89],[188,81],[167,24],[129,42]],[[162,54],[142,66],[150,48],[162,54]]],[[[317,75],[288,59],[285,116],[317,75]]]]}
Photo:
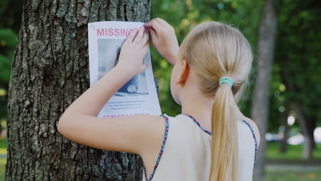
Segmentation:
{"type": "MultiPolygon", "coordinates": [[[[187,36],[189,31],[205,21],[219,21],[237,27],[248,38],[252,45],[254,57],[257,45],[259,19],[261,19],[262,1],[152,1],[152,18],[165,19],[176,30],[178,43],[187,36]]],[[[160,106],[162,112],[167,114],[180,114],[180,106],[175,103],[170,92],[171,64],[162,58],[155,49],[151,50],[154,75],[160,82],[160,106]]],[[[255,64],[255,63],[254,63],[255,64]]],[[[252,75],[254,75],[252,70],[252,75]]],[[[250,103],[252,83],[251,77],[246,97],[239,105],[248,117],[250,116],[250,103]]]]}

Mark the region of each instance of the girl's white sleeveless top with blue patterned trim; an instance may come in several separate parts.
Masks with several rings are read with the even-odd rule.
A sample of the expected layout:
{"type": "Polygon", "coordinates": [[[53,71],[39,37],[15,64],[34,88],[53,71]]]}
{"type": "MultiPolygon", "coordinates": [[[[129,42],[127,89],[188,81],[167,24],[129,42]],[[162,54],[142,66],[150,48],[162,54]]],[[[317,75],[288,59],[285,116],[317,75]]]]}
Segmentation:
{"type": "MultiPolygon", "coordinates": [[[[165,136],[152,175],[143,181],[208,181],[211,167],[211,132],[191,115],[165,117],[165,136]]],[[[250,124],[237,120],[239,181],[251,181],[257,157],[257,140],[250,124]]]]}

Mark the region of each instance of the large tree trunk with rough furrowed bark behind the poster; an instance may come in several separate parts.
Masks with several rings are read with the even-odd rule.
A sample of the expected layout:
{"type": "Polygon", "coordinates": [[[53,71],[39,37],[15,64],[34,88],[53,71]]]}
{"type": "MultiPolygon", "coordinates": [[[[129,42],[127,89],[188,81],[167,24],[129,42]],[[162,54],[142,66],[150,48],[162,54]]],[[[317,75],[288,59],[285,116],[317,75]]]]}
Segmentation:
{"type": "Polygon", "coordinates": [[[5,180],[141,180],[136,154],[72,143],[56,123],[89,88],[87,23],[150,20],[147,0],[25,0],[12,62],[5,180]]]}

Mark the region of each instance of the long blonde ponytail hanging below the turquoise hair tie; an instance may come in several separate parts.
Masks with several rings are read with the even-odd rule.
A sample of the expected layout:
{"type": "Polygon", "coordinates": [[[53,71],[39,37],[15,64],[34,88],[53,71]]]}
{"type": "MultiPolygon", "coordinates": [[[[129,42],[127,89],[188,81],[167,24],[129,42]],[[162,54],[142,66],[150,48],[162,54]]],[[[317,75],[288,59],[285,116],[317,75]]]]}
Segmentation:
{"type": "Polygon", "coordinates": [[[235,99],[228,84],[217,88],[212,108],[212,156],[209,181],[237,181],[238,141],[235,99]]]}

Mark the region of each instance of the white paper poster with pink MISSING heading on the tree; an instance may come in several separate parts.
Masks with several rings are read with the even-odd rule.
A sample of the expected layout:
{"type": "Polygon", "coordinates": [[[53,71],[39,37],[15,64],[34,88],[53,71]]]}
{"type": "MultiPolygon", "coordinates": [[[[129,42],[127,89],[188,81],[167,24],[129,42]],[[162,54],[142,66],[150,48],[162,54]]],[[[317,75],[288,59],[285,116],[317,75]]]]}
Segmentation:
{"type": "MultiPolygon", "coordinates": [[[[134,27],[143,23],[100,21],[88,23],[88,52],[90,84],[93,86],[118,62],[121,45],[134,27]]],[[[160,105],[156,93],[150,50],[147,51],[145,71],[132,77],[104,105],[98,117],[117,118],[132,114],[159,115],[160,105]]],[[[117,79],[117,77],[115,77],[117,79]]]]}

